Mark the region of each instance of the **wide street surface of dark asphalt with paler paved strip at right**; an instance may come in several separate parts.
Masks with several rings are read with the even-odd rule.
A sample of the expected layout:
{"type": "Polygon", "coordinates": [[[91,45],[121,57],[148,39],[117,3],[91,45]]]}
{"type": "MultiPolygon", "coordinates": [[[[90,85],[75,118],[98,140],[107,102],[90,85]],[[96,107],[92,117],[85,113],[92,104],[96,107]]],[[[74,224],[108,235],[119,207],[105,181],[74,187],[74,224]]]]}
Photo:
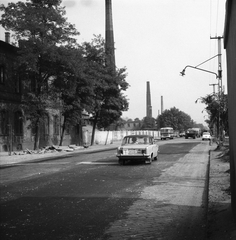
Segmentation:
{"type": "Polygon", "coordinates": [[[208,142],[160,142],[151,165],[115,151],[1,168],[0,238],[206,239],[208,142]]]}

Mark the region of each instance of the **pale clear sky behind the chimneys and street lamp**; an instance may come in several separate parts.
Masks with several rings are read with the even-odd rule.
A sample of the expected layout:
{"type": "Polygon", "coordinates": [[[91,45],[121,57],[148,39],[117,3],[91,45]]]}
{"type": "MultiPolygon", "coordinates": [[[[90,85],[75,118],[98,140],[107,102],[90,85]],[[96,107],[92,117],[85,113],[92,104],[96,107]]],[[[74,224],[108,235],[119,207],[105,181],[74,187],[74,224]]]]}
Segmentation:
{"type": "MultiPolygon", "coordinates": [[[[1,0],[6,5],[16,0],[1,0]]],[[[206,105],[197,99],[213,93],[216,76],[185,66],[197,66],[218,54],[223,36],[226,0],[112,0],[115,59],[118,68],[127,68],[124,92],[129,110],[123,118],[146,116],[146,85],[150,83],[152,115],[172,107],[206,125],[206,105]]],[[[80,32],[79,43],[95,35],[105,38],[105,0],[62,0],[68,22],[80,32]]],[[[0,28],[0,40],[4,40],[0,28]]],[[[222,41],[222,84],[227,93],[226,53],[222,41]]],[[[199,66],[217,73],[218,58],[199,66]]],[[[217,91],[217,86],[215,87],[217,91]]]]}

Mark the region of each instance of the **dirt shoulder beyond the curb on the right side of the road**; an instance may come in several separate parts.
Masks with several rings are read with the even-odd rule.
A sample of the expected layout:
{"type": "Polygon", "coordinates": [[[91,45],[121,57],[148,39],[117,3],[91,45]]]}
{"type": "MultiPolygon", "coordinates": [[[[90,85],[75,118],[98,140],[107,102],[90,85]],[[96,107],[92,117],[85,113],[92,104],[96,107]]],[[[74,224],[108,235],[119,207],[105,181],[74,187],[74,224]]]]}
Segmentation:
{"type": "Polygon", "coordinates": [[[208,239],[236,239],[231,211],[228,148],[211,151],[208,196],[208,239]]]}

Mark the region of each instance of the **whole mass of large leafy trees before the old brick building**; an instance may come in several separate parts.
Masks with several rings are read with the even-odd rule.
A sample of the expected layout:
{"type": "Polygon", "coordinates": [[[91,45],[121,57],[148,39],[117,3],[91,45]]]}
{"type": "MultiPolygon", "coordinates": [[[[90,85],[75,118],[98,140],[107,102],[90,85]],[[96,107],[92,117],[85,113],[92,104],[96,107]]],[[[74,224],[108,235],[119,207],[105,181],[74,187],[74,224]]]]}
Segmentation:
{"type": "Polygon", "coordinates": [[[26,89],[22,108],[36,130],[35,148],[48,109],[59,109],[64,117],[60,144],[66,126],[81,123],[83,110],[92,116],[94,133],[96,127],[106,128],[128,109],[123,94],[128,88],[126,69],[114,73],[105,64],[101,36],[82,46],[76,43],[79,32],[67,22],[61,3],[27,0],[0,6],[4,12],[0,23],[19,42],[16,69],[26,89]]]}

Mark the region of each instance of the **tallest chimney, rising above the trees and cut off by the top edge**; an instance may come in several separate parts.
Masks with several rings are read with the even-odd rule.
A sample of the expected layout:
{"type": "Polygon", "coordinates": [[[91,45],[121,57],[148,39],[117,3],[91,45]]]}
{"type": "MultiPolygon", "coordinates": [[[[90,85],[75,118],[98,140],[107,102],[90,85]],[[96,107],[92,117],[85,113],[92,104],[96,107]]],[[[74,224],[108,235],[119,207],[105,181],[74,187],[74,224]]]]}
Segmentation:
{"type": "Polygon", "coordinates": [[[106,51],[106,64],[110,66],[112,71],[115,72],[115,48],[114,48],[114,34],[112,23],[112,6],[111,0],[105,0],[106,4],[106,34],[105,34],[105,51],[106,51]]]}

